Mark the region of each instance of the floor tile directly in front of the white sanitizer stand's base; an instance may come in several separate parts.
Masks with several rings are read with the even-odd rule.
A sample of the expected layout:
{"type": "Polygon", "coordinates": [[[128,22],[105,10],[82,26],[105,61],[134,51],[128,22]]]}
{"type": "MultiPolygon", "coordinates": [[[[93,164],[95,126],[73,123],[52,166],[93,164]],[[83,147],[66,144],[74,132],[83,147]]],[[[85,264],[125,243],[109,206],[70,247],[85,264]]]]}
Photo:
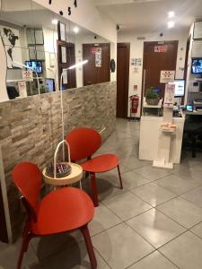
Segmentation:
{"type": "Polygon", "coordinates": [[[149,179],[150,181],[153,181],[153,180],[156,180],[159,178],[163,178],[167,175],[170,175],[171,172],[172,171],[170,169],[158,169],[158,168],[152,167],[152,165],[136,169],[136,173],[144,176],[145,178],[149,179]]]}

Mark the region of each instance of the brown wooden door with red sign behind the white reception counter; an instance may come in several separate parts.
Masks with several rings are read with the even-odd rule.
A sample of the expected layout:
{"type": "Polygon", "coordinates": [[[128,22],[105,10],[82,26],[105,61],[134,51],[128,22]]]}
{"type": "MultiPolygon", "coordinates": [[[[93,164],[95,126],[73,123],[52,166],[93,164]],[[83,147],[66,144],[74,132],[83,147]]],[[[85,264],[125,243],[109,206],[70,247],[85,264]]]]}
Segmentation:
{"type": "Polygon", "coordinates": [[[164,97],[165,84],[160,83],[162,70],[176,70],[178,41],[145,42],[143,91],[149,87],[158,87],[164,97]]]}

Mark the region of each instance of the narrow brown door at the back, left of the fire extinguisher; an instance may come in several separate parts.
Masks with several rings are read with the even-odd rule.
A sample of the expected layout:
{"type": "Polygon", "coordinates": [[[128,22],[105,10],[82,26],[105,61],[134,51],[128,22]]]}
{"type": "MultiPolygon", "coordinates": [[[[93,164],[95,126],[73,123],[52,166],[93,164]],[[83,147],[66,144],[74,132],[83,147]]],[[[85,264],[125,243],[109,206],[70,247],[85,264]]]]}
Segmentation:
{"type": "Polygon", "coordinates": [[[127,118],[130,44],[118,43],[117,117],[127,118]]]}

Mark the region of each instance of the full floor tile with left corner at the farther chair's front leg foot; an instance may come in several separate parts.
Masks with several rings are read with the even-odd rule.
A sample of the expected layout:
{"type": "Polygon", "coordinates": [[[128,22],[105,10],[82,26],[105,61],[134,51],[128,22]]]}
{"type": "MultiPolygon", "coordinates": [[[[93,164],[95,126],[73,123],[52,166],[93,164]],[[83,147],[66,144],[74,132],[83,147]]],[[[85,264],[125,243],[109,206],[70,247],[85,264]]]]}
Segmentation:
{"type": "Polygon", "coordinates": [[[107,199],[102,203],[110,208],[110,210],[118,215],[123,221],[127,221],[128,219],[135,217],[137,214],[144,213],[151,208],[149,204],[146,204],[141,199],[128,192],[107,199]]]}

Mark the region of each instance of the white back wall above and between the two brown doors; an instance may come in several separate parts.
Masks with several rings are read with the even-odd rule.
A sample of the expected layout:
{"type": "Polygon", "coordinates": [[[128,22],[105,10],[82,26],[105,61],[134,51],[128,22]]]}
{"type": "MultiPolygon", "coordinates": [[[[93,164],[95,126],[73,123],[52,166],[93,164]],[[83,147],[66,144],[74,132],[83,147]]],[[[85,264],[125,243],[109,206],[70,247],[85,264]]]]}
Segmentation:
{"type": "MultiPolygon", "coordinates": [[[[180,33],[180,34],[170,34],[169,32],[164,34],[163,37],[159,37],[159,33],[155,34],[144,34],[136,35],[136,33],[120,33],[118,35],[118,42],[128,42],[130,43],[130,59],[131,58],[142,58],[142,65],[138,67],[138,72],[135,73],[135,68],[133,65],[130,65],[129,68],[129,91],[128,96],[137,94],[141,97],[142,91],[142,78],[143,78],[143,55],[144,55],[144,42],[145,41],[165,41],[165,40],[179,40],[178,56],[177,56],[177,67],[176,67],[176,78],[183,78],[185,54],[186,54],[186,45],[189,33],[180,33]],[[138,36],[144,36],[145,40],[137,40],[138,36]],[[183,48],[181,50],[181,48],[183,48]],[[134,91],[134,85],[137,85],[137,91],[134,91]]],[[[136,114],[136,117],[140,117],[140,105],[136,114]]],[[[129,116],[129,101],[128,101],[128,116],[129,116]]]]}

